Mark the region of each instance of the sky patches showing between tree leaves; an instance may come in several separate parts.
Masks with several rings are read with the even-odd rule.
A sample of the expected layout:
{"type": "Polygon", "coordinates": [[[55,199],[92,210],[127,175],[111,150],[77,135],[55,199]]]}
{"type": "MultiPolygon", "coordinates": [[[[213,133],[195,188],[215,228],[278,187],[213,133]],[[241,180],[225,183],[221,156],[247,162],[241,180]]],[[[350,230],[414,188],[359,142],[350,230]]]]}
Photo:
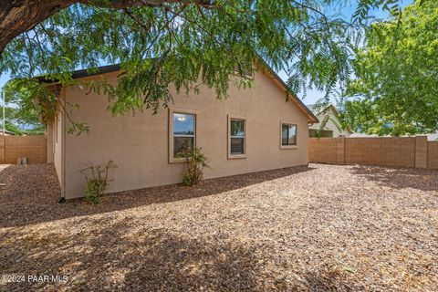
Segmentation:
{"type": "MultiPolygon", "coordinates": [[[[400,4],[401,6],[406,6],[406,5],[411,5],[413,3],[414,0],[400,0],[400,4]]],[[[355,9],[356,9],[356,1],[355,0],[351,0],[351,5],[345,5],[343,7],[336,7],[334,9],[336,9],[336,11],[339,11],[341,16],[344,17],[345,19],[350,19],[352,14],[354,13],[355,9]],[[339,10],[340,8],[340,10],[339,10]]],[[[388,13],[386,12],[382,12],[381,10],[375,10],[371,12],[372,16],[375,16],[376,18],[387,18],[388,17],[388,13]]],[[[280,78],[283,78],[283,80],[287,80],[287,74],[285,72],[278,72],[278,75],[280,76],[280,78]]],[[[3,74],[0,76],[0,89],[3,88],[3,86],[5,85],[5,83],[7,82],[7,80],[10,79],[10,76],[8,74],[3,74]]],[[[300,97],[301,95],[298,94],[298,97],[300,97]]],[[[321,99],[324,97],[324,92],[315,90],[315,89],[308,89],[307,92],[307,97],[305,99],[303,99],[303,102],[305,104],[313,104],[315,103],[318,99],[321,99]]]]}

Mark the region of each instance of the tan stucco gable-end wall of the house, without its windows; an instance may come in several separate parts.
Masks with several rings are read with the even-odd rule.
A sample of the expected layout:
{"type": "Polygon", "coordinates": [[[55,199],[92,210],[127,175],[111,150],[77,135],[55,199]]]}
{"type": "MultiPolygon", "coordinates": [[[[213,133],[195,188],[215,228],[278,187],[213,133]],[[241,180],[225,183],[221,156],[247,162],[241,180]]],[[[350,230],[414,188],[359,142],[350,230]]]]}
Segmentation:
{"type": "MultiPolygon", "coordinates": [[[[116,82],[117,74],[107,74],[106,78],[116,82]]],[[[257,73],[255,83],[254,89],[232,87],[226,100],[215,99],[214,90],[205,88],[190,98],[173,91],[172,109],[196,112],[196,144],[203,148],[211,166],[205,178],[308,163],[307,117],[292,102],[285,101],[285,92],[265,74],[257,73]],[[245,159],[227,159],[228,115],[246,118],[245,159]],[[280,150],[280,120],[297,123],[297,149],[280,150]]],[[[112,117],[104,96],[86,95],[85,89],[71,87],[66,98],[79,105],[71,118],[87,122],[90,129],[89,134],[66,135],[67,198],[82,195],[85,179],[79,170],[85,162],[112,160],[118,165],[110,173],[113,181],[109,193],[182,181],[185,164],[169,163],[169,110],[161,109],[157,115],[145,110],[135,116],[126,113],[112,117]]]]}

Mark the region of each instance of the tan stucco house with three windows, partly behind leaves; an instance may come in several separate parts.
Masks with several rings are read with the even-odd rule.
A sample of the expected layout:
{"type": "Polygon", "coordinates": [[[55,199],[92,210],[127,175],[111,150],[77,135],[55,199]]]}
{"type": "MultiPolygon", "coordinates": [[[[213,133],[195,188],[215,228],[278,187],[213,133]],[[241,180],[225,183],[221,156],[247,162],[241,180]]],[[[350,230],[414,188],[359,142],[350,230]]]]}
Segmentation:
{"type": "MultiPolygon", "coordinates": [[[[73,78],[99,79],[115,84],[120,66],[79,70],[73,78]]],[[[76,104],[71,120],[86,122],[89,134],[68,134],[66,112],[58,111],[47,127],[48,162],[57,171],[62,194],[69,199],[84,193],[86,162],[112,160],[108,193],[181,183],[186,163],[178,159],[186,142],[203,148],[211,169],[204,178],[260,172],[308,164],[308,124],[318,119],[297,97],[285,100],[285,83],[269,68],[255,72],[255,88],[228,91],[218,100],[214,89],[177,94],[170,89],[169,109],[111,116],[106,96],[77,86],[60,89],[60,99],[76,104]]],[[[53,85],[52,85],[53,86],[53,85]]]]}

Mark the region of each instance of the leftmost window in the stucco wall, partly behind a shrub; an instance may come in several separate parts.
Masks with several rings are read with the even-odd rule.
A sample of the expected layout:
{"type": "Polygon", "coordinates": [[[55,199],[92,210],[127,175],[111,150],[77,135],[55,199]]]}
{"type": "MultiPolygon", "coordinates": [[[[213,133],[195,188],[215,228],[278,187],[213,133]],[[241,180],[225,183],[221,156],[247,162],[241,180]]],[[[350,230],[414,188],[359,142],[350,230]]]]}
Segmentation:
{"type": "Polygon", "coordinates": [[[172,112],[171,157],[181,158],[187,147],[195,145],[196,115],[183,112],[172,112]]]}

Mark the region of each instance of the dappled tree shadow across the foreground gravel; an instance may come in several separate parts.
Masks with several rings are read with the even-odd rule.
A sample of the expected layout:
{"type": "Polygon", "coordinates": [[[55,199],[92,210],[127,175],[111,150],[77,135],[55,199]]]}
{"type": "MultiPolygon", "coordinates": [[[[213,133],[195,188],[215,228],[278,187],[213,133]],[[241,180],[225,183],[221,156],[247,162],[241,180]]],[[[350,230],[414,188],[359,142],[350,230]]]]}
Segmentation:
{"type": "Polygon", "coordinates": [[[166,228],[132,230],[130,219],[113,219],[117,220],[89,218],[89,228],[79,234],[8,232],[0,254],[2,275],[59,275],[68,276],[68,282],[4,282],[0,290],[364,290],[345,271],[330,266],[297,267],[293,269],[297,277],[287,276],[276,267],[275,254],[261,252],[268,248],[264,245],[240,244],[220,233],[196,237],[166,228]]]}

